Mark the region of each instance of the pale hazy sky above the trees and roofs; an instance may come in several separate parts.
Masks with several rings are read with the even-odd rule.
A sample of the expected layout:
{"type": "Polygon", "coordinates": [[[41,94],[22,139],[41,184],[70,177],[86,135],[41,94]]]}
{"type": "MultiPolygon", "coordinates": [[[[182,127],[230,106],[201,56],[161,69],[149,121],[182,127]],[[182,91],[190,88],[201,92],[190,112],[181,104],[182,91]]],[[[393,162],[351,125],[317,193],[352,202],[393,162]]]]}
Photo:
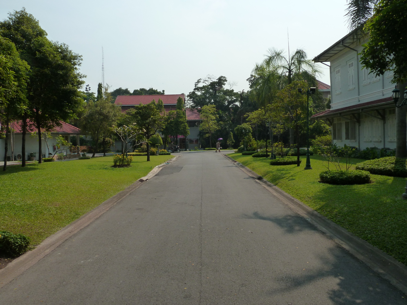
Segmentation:
{"type": "MultiPolygon", "coordinates": [[[[192,91],[211,74],[248,89],[267,49],[304,48],[313,58],[348,33],[346,0],[45,1],[0,0],[0,19],[25,7],[53,41],[83,55],[81,72],[96,91],[112,86],[192,91]]],[[[328,67],[320,80],[329,83],[328,67]]]]}

